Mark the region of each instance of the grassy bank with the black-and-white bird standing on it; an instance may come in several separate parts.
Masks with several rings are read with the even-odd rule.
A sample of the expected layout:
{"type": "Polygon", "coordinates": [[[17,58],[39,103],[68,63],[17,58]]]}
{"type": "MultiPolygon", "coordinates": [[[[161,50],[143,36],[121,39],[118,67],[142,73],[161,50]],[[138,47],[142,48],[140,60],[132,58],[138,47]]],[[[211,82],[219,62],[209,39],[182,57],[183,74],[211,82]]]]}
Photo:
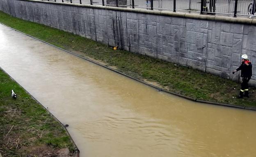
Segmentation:
{"type": "Polygon", "coordinates": [[[66,130],[0,70],[0,153],[3,157],[74,156],[66,130]],[[18,98],[11,97],[14,89],[18,98]],[[52,153],[52,154],[51,154],[52,153]]]}

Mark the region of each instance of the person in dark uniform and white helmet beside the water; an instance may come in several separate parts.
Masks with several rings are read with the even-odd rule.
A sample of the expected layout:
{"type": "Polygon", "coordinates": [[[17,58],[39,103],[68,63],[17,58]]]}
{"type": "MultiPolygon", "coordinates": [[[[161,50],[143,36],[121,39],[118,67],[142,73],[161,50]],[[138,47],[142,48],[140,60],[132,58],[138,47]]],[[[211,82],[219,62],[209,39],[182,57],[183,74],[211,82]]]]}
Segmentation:
{"type": "Polygon", "coordinates": [[[247,55],[242,55],[242,64],[233,71],[233,74],[237,71],[241,70],[241,77],[242,77],[242,84],[238,98],[243,98],[243,93],[245,92],[245,97],[249,98],[249,89],[248,89],[248,82],[251,79],[252,75],[252,65],[248,59],[247,55]]]}

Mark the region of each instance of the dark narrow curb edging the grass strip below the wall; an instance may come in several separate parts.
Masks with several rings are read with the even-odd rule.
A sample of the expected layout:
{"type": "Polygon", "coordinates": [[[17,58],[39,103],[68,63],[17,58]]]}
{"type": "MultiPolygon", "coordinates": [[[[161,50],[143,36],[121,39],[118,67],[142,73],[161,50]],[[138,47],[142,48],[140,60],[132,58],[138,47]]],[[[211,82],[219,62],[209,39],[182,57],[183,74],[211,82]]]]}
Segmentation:
{"type": "MultiPolygon", "coordinates": [[[[2,24],[2,23],[0,23],[0,24],[2,24]]],[[[2,24],[2,25],[5,25],[5,24],[2,24]]],[[[9,27],[9,26],[7,26],[7,25],[5,25],[5,26],[6,26],[6,27],[9,27]]],[[[25,33],[21,32],[21,31],[19,31],[19,30],[16,30],[16,29],[14,29],[14,28],[12,28],[12,27],[9,27],[9,28],[11,28],[12,30],[15,30],[15,31],[17,31],[17,32],[20,32],[20,33],[22,33],[22,34],[25,34],[25,33]]],[[[175,93],[175,92],[171,92],[171,91],[166,91],[165,89],[162,89],[162,88],[160,88],[160,87],[158,87],[158,86],[154,86],[154,85],[152,85],[152,84],[149,84],[149,83],[147,83],[147,82],[144,82],[144,81],[142,81],[142,80],[139,80],[139,79],[137,79],[137,78],[135,78],[135,77],[132,77],[132,76],[130,76],[130,75],[127,75],[127,74],[125,74],[125,73],[122,73],[122,72],[120,72],[120,71],[117,71],[117,70],[115,70],[115,69],[113,69],[113,68],[110,68],[110,67],[108,67],[108,66],[105,66],[105,65],[103,65],[103,64],[100,64],[100,63],[98,63],[98,62],[96,62],[96,61],[92,61],[91,59],[82,57],[82,56],[77,55],[77,54],[75,54],[75,53],[73,53],[73,52],[70,52],[70,51],[68,51],[68,50],[64,50],[64,49],[62,49],[62,48],[59,48],[59,47],[57,47],[57,46],[55,46],[55,45],[52,45],[52,44],[50,44],[50,43],[47,43],[46,41],[43,41],[43,40],[41,40],[41,39],[38,39],[38,38],[36,38],[36,37],[34,37],[34,36],[31,36],[31,35],[29,35],[29,34],[25,34],[25,35],[30,36],[30,37],[32,37],[32,38],[34,38],[34,39],[37,39],[37,40],[39,40],[39,41],[41,41],[41,42],[43,42],[43,43],[46,43],[46,44],[48,44],[48,45],[50,45],[50,46],[53,46],[53,47],[55,47],[55,48],[58,48],[58,49],[60,49],[60,50],[63,50],[63,51],[65,51],[65,52],[68,52],[68,53],[70,53],[70,54],[72,54],[72,55],[75,55],[76,57],[80,57],[80,58],[85,59],[85,60],[87,60],[87,61],[90,61],[90,62],[92,62],[92,63],[94,63],[94,64],[97,64],[97,65],[99,65],[99,66],[102,66],[102,67],[104,67],[104,68],[107,68],[107,69],[109,69],[109,70],[111,70],[111,71],[114,71],[114,72],[116,72],[116,73],[119,73],[119,74],[121,74],[121,75],[124,75],[124,76],[126,76],[126,77],[129,77],[129,78],[131,78],[131,79],[133,79],[133,80],[136,80],[136,81],[138,81],[138,82],[141,82],[141,83],[143,83],[143,84],[146,84],[146,85],[148,85],[148,86],[151,86],[152,88],[157,89],[158,91],[163,91],[163,92],[165,92],[165,93],[169,93],[169,94],[172,94],[172,95],[175,95],[175,96],[179,96],[179,97],[185,98],[185,99],[187,99],[187,100],[192,100],[192,101],[194,101],[194,102],[201,102],[201,103],[212,104],[212,105],[220,105],[220,106],[225,106],[225,107],[233,107],[233,108],[237,108],[237,109],[248,109],[248,110],[254,110],[254,111],[256,111],[256,108],[253,108],[253,107],[244,107],[244,106],[230,105],[230,104],[224,104],[224,103],[219,103],[219,102],[210,102],[210,101],[205,101],[205,100],[198,100],[198,99],[195,99],[195,98],[191,98],[191,97],[188,97],[188,96],[181,95],[181,94],[179,94],[179,93],[175,93]]],[[[0,68],[1,68],[1,67],[0,67],[0,68]]],[[[1,69],[2,69],[2,68],[1,68],[1,69]]],[[[63,124],[62,124],[62,125],[63,125],[63,124]]],[[[72,140],[73,140],[73,139],[72,139],[72,140]]]]}

